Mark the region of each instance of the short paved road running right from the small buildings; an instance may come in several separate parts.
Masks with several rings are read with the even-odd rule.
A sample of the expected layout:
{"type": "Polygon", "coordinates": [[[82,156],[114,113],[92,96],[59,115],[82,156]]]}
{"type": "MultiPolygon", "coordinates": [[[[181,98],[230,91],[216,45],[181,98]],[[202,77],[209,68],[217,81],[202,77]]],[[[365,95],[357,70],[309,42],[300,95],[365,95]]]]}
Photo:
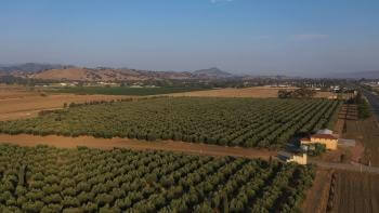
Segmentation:
{"type": "Polygon", "coordinates": [[[352,172],[368,172],[379,174],[379,168],[360,165],[360,164],[348,164],[348,163],[332,163],[332,162],[321,162],[316,160],[309,160],[311,163],[317,164],[321,168],[336,169],[336,170],[347,170],[352,172]]]}

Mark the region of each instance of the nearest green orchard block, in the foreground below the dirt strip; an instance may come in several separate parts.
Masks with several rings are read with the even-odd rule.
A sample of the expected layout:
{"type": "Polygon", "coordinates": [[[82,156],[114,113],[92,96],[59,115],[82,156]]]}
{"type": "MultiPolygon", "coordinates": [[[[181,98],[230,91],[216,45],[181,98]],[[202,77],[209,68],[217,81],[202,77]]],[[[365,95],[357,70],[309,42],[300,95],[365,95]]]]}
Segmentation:
{"type": "Polygon", "coordinates": [[[296,212],[314,168],[168,151],[0,145],[0,212],[296,212]]]}

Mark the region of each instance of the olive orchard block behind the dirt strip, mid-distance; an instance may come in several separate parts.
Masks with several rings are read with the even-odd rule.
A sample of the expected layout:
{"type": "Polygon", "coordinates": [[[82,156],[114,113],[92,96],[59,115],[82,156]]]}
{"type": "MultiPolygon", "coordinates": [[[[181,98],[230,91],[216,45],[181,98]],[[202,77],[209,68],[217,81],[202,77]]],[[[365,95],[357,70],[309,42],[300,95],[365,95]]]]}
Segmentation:
{"type": "Polygon", "coordinates": [[[156,97],[74,105],[0,122],[0,132],[278,148],[297,133],[328,127],[339,106],[321,98],[156,97]]]}

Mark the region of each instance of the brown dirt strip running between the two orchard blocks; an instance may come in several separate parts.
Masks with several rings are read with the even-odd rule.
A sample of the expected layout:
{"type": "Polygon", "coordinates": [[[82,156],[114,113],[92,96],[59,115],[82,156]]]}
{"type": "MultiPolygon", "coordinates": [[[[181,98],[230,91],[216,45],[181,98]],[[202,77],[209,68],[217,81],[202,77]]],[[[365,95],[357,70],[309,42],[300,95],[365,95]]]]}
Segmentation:
{"type": "Polygon", "coordinates": [[[206,144],[192,144],[184,142],[144,142],[128,138],[94,138],[91,136],[80,137],[64,137],[56,135],[37,136],[28,134],[19,135],[6,135],[0,134],[0,143],[17,144],[19,146],[36,146],[36,145],[49,145],[60,148],[75,148],[77,146],[87,146],[91,148],[113,149],[129,148],[134,150],[167,150],[167,151],[181,151],[197,155],[208,156],[234,156],[245,158],[262,158],[270,159],[275,158],[276,151],[270,151],[264,149],[240,148],[240,147],[224,147],[206,144]]]}

